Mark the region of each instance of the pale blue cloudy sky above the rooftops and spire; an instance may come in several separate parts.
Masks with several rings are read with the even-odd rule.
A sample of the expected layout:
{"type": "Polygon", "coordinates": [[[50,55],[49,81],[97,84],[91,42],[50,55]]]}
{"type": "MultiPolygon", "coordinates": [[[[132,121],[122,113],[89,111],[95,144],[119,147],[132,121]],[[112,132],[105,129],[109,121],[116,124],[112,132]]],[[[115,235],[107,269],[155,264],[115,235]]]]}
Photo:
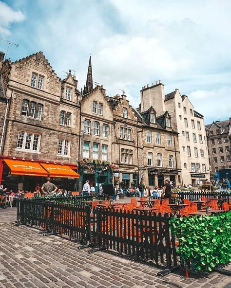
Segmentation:
{"type": "Polygon", "coordinates": [[[93,80],[134,107],[161,79],[208,124],[231,116],[230,15],[230,0],[0,0],[0,37],[19,43],[12,61],[42,51],[59,77],[75,70],[79,89],[91,54],[93,80]]]}

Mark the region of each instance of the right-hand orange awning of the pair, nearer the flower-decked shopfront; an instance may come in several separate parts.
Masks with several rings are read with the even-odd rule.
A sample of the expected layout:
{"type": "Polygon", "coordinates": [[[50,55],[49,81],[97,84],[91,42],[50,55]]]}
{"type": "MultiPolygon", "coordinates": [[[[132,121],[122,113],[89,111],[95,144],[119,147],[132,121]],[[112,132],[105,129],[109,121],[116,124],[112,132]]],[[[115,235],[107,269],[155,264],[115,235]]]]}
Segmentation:
{"type": "Polygon", "coordinates": [[[79,174],[67,165],[47,163],[40,163],[40,165],[48,171],[50,177],[79,178],[79,174]]]}

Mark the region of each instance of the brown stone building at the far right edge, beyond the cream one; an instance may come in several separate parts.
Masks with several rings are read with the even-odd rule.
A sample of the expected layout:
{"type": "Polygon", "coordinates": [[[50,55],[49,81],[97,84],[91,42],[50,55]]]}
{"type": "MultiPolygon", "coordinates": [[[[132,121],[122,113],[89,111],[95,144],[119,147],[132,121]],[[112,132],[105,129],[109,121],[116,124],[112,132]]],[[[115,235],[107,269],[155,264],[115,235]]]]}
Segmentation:
{"type": "Polygon", "coordinates": [[[211,173],[231,168],[231,117],[206,127],[211,173]]]}

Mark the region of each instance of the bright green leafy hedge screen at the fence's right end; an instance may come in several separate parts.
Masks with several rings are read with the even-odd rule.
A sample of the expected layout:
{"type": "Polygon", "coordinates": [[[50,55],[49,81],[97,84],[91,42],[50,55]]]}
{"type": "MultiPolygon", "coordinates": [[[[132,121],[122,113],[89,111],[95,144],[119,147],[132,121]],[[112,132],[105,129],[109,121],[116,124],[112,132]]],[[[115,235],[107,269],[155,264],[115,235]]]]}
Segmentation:
{"type": "Polygon", "coordinates": [[[231,261],[231,211],[218,215],[171,218],[171,230],[179,240],[181,262],[196,270],[212,271],[231,261]]]}

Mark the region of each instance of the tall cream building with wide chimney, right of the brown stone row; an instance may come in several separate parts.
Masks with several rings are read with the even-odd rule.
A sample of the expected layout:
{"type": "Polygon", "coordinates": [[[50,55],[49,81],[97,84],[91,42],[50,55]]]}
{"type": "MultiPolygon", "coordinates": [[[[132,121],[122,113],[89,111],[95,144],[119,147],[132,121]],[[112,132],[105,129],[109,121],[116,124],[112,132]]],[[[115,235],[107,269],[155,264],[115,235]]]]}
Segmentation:
{"type": "Polygon", "coordinates": [[[140,97],[141,113],[149,107],[153,107],[157,123],[162,127],[167,125],[167,129],[171,127],[172,131],[178,134],[177,140],[180,144],[178,167],[181,168],[181,175],[178,173],[179,182],[198,186],[200,180],[209,179],[204,118],[203,115],[194,111],[188,97],[181,96],[178,89],[165,95],[164,85],[160,80],[153,83],[152,86],[142,87],[140,97]]]}

